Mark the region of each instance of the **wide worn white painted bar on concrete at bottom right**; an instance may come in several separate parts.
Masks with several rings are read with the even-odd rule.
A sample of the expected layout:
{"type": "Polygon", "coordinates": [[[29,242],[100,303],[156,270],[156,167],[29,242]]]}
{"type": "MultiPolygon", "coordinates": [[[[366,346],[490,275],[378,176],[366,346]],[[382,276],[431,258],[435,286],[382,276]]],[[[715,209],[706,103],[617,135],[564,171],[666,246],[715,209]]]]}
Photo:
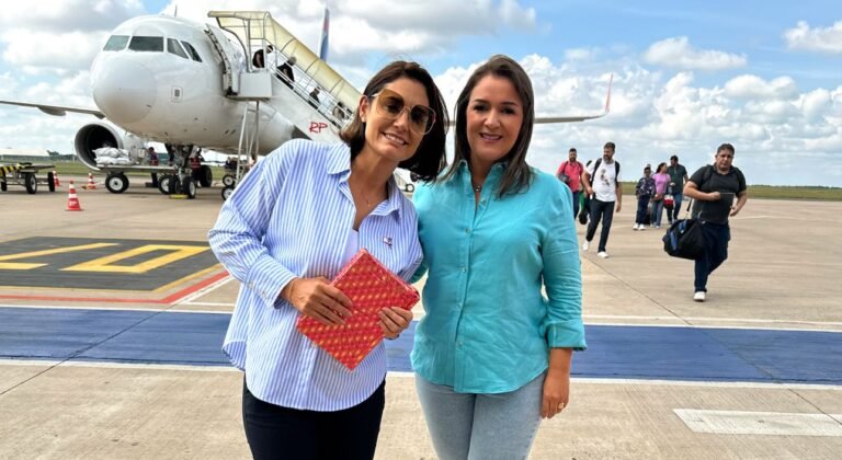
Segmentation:
{"type": "Polygon", "coordinates": [[[674,409],[694,433],[842,437],[840,415],[674,409]]]}

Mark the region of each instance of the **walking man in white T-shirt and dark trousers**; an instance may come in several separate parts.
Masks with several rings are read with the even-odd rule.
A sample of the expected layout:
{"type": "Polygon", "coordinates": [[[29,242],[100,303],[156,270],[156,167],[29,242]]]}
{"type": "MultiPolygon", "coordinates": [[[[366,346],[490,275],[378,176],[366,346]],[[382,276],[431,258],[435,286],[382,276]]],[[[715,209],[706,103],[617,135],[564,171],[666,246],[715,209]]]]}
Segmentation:
{"type": "Polygon", "coordinates": [[[584,192],[591,196],[591,221],[588,223],[588,232],[584,235],[582,251],[588,251],[591,240],[596,233],[596,226],[602,219],[602,232],[600,233],[600,246],[598,254],[607,258],[605,244],[608,242],[611,222],[614,219],[614,203],[616,211],[623,207],[623,188],[619,185],[619,163],[614,161],[614,142],[606,142],[602,148],[602,158],[596,159],[582,174],[584,192]]]}

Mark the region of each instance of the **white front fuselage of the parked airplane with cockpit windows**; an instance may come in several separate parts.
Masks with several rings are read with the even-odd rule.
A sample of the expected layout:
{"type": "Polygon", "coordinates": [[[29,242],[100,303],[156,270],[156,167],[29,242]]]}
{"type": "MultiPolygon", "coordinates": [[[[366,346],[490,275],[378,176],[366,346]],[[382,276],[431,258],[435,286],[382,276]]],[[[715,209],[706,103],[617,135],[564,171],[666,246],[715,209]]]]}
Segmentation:
{"type": "MultiPolygon", "coordinates": [[[[246,68],[227,39],[217,49],[208,25],[171,16],[140,16],[113,32],[91,68],[91,90],[109,120],[138,136],[170,145],[236,152],[241,122],[253,102],[226,96],[224,53],[246,68]]],[[[271,103],[261,104],[260,153],[288,140],[293,125],[271,103]]]]}

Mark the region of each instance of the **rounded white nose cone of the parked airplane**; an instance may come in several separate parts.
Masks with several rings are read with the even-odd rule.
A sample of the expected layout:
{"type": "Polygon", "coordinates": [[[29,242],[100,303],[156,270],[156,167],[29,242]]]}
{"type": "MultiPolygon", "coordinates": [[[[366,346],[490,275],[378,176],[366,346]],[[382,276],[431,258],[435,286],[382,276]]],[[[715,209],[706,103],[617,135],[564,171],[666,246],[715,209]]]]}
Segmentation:
{"type": "Polygon", "coordinates": [[[151,112],[156,87],[148,68],[127,59],[100,62],[91,76],[93,101],[118,125],[137,123],[151,112]]]}

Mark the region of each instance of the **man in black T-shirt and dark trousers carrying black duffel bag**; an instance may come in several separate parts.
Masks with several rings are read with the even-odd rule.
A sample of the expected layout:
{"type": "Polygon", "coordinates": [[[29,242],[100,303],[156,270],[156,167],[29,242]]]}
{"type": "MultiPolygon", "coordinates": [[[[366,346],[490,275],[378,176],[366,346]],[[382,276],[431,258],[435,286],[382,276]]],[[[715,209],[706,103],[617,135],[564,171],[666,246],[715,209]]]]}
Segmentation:
{"type": "Polygon", "coordinates": [[[695,199],[693,217],[698,219],[707,240],[705,253],[696,258],[693,300],[697,302],[707,297],[707,277],[728,258],[728,218],[737,216],[749,199],[746,176],[731,165],[733,152],[733,146],[722,143],[716,150],[714,164],[701,168],[684,185],[684,195],[695,199]]]}

